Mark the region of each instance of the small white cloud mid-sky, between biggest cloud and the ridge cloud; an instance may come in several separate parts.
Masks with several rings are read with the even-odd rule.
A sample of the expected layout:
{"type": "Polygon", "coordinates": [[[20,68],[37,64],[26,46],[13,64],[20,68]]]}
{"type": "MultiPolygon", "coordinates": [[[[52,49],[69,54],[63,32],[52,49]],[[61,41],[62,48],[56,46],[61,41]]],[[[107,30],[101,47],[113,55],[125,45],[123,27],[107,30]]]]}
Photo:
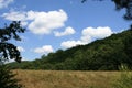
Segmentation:
{"type": "Polygon", "coordinates": [[[65,35],[72,35],[75,34],[75,30],[70,26],[66,28],[64,32],[54,32],[55,36],[65,36],[65,35]]]}

